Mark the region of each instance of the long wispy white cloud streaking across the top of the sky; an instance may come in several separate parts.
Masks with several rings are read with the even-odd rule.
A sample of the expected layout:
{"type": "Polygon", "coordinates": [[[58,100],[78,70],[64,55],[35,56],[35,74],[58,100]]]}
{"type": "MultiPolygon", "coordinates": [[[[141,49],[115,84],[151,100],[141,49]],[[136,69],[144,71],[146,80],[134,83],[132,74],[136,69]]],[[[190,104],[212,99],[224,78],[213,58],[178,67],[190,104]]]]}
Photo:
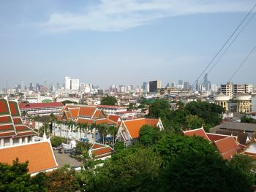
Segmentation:
{"type": "MultiPolygon", "coordinates": [[[[234,0],[102,0],[86,12],[55,12],[39,28],[50,33],[123,31],[154,20],[211,12],[248,12],[252,1],[234,0]]],[[[87,7],[88,8],[88,7],[87,7]]]]}

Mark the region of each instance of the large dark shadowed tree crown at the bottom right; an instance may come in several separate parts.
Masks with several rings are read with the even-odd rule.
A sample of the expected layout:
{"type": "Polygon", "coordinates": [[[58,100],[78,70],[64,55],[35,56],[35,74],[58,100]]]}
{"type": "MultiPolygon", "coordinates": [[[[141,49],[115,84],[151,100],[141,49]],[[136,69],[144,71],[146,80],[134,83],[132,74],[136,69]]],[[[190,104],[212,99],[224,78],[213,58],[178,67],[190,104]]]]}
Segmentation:
{"type": "Polygon", "coordinates": [[[241,172],[214,154],[187,151],[170,161],[159,178],[159,191],[250,191],[241,172]]]}

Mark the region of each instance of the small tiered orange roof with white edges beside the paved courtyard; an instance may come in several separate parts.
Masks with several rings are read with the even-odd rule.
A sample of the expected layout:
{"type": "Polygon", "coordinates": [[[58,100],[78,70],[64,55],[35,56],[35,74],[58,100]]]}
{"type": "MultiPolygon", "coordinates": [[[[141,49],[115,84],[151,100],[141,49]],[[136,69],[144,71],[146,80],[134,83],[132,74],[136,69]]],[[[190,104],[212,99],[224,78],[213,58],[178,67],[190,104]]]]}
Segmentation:
{"type": "Polygon", "coordinates": [[[110,156],[113,152],[114,150],[110,146],[102,145],[97,142],[94,142],[90,150],[94,159],[110,156]]]}

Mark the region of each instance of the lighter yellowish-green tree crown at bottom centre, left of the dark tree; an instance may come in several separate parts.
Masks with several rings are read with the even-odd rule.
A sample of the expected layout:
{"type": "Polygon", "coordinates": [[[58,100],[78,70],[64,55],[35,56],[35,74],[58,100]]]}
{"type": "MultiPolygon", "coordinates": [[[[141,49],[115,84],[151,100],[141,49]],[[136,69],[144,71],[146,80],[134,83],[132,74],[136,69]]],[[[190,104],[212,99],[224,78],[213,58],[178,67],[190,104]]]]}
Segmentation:
{"type": "Polygon", "coordinates": [[[161,158],[150,148],[137,147],[116,161],[105,161],[95,174],[82,176],[84,191],[150,191],[159,173],[161,158]]]}

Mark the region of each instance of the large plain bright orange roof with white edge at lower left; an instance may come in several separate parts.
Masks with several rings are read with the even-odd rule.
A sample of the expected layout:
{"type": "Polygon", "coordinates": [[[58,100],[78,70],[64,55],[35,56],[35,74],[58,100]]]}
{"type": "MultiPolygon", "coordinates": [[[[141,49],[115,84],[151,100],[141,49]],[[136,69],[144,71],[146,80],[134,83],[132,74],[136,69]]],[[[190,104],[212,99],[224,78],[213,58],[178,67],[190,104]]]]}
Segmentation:
{"type": "Polygon", "coordinates": [[[0,148],[1,163],[12,165],[15,158],[18,158],[21,163],[29,161],[29,173],[42,172],[58,167],[48,140],[0,148]]]}

